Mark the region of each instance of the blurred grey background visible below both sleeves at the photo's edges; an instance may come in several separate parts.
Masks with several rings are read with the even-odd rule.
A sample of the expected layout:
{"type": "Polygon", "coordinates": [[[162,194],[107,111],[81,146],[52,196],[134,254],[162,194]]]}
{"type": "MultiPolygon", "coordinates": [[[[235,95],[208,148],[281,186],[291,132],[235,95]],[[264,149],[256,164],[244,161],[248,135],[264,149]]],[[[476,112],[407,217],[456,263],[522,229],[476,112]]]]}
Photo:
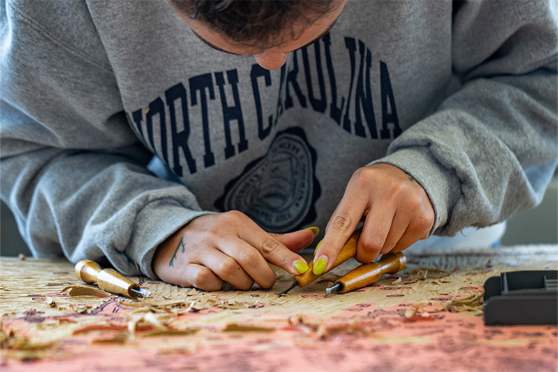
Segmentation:
{"type": "MultiPolygon", "coordinates": [[[[525,211],[508,221],[502,245],[558,244],[558,181],[555,177],[541,205],[525,211]]],[[[0,206],[0,254],[15,256],[31,255],[22,241],[10,209],[0,206]]]]}

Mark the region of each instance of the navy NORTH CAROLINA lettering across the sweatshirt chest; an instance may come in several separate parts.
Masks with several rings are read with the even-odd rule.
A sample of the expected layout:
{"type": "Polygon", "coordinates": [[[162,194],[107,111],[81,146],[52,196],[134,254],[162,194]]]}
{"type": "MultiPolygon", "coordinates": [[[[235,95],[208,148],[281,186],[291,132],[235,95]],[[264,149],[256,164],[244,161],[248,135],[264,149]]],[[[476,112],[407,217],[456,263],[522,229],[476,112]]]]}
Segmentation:
{"type": "MultiPolygon", "coordinates": [[[[286,110],[294,107],[296,99],[298,99],[301,107],[310,106],[315,112],[325,114],[329,107],[329,117],[342,126],[344,131],[354,133],[359,137],[367,137],[367,131],[370,131],[370,136],[374,139],[378,137],[393,139],[402,133],[388,66],[379,61],[378,90],[381,94],[382,103],[382,124],[380,124],[379,121],[376,121],[373,105],[373,101],[376,101],[378,105],[379,100],[372,96],[372,91],[376,91],[375,86],[372,86],[372,53],[361,40],[358,40],[358,45],[355,38],[345,37],[344,40],[349,63],[345,61],[342,67],[347,69],[347,66],[350,66],[351,68],[348,87],[342,84],[343,89],[345,87],[349,89],[345,96],[338,95],[335,66],[331,55],[331,36],[329,34],[322,38],[324,55],[321,53],[322,42],[314,43],[313,51],[310,51],[309,47],[295,51],[289,61],[291,64],[285,64],[281,67],[278,84],[277,82],[272,84],[273,74],[269,70],[258,64],[252,65],[250,82],[255,107],[250,108],[252,110],[255,108],[259,140],[264,140],[271,135],[273,126],[278,124],[278,119],[286,110]],[[360,61],[357,61],[357,48],[360,61]],[[312,52],[314,55],[309,55],[312,52]],[[299,58],[301,58],[301,66],[298,64],[299,58]],[[312,60],[312,58],[315,60],[312,60]],[[299,69],[301,68],[304,69],[306,85],[301,81],[303,77],[299,76],[299,69]],[[324,68],[327,69],[331,95],[327,93],[324,68]],[[262,97],[265,96],[269,101],[269,94],[274,91],[278,93],[276,111],[273,114],[264,113],[264,107],[269,106],[262,102],[262,97]],[[307,105],[306,98],[308,98],[310,105],[307,105]],[[376,99],[374,100],[374,98],[376,99]],[[354,100],[354,107],[351,107],[352,99],[354,100]],[[354,121],[354,124],[352,121],[354,121]],[[364,122],[366,125],[364,125],[364,122]]],[[[300,72],[302,73],[302,71],[300,72]]],[[[188,87],[185,88],[186,84],[179,83],[167,89],[164,96],[155,98],[149,103],[149,107],[142,107],[140,110],[130,113],[126,112],[131,128],[141,138],[145,146],[161,156],[162,160],[179,177],[183,177],[184,173],[188,172],[183,170],[185,163],[188,165],[190,174],[197,172],[197,165],[199,165],[188,144],[191,140],[190,133],[193,128],[190,125],[198,126],[196,129],[199,128],[199,125],[202,126],[202,128],[199,128],[202,130],[199,135],[203,135],[204,167],[209,168],[216,163],[211,149],[211,131],[209,128],[210,119],[211,124],[215,125],[216,118],[209,117],[209,110],[215,112],[216,110],[213,107],[217,108],[218,106],[215,92],[217,89],[220,94],[220,105],[223,112],[225,159],[232,158],[248,149],[248,140],[246,139],[248,128],[245,125],[243,107],[241,106],[240,95],[243,86],[241,85],[242,82],[239,81],[239,71],[233,69],[206,73],[190,77],[188,82],[190,85],[189,100],[186,94],[188,87]],[[213,81],[213,75],[215,81],[213,81]],[[193,122],[190,124],[190,119],[193,117],[193,107],[198,104],[200,110],[198,120],[201,123],[193,122]],[[209,105],[213,106],[210,107],[209,105]],[[236,124],[234,124],[234,121],[236,121],[236,124]],[[238,131],[233,130],[233,128],[236,128],[234,126],[238,126],[238,131]],[[238,133],[237,144],[234,143],[236,133],[238,133]],[[160,143],[155,142],[159,139],[158,134],[160,134],[160,143]],[[168,147],[172,147],[172,149],[168,149],[168,147]]],[[[246,88],[249,91],[250,88],[246,88]]],[[[248,91],[243,93],[246,94],[248,91]]],[[[195,117],[198,118],[198,112],[195,112],[195,114],[195,117]]],[[[201,139],[197,141],[200,143],[199,145],[196,144],[196,149],[201,147],[201,139]]]]}

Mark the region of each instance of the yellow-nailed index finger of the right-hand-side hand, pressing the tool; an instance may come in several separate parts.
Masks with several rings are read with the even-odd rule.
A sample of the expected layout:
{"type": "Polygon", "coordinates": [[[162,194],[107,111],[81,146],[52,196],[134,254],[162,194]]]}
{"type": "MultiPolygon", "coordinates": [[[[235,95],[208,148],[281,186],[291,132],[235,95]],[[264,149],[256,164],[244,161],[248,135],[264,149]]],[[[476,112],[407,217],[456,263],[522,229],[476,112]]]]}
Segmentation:
{"type": "Polygon", "coordinates": [[[343,244],[354,232],[367,207],[368,201],[364,193],[345,193],[327,224],[322,243],[317,247],[312,267],[314,274],[322,274],[331,269],[343,244]]]}

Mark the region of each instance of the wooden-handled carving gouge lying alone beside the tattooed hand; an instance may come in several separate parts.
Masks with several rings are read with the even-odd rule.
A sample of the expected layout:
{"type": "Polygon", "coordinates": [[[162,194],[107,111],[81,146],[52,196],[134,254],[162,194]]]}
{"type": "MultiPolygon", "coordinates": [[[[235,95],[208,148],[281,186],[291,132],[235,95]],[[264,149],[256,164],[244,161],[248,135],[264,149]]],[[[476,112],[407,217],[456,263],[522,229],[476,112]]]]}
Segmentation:
{"type": "Polygon", "coordinates": [[[149,290],[140,288],[140,285],[130,281],[114,269],[101,269],[97,262],[81,260],[74,267],[75,276],[85,283],[97,283],[98,287],[115,295],[128,297],[147,297],[149,290]]]}

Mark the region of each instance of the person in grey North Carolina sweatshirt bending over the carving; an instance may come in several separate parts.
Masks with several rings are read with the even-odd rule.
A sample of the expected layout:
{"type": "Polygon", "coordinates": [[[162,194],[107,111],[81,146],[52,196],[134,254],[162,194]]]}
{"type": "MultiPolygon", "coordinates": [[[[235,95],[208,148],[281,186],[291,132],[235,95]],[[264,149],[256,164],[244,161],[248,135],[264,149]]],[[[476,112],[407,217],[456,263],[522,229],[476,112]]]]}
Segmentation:
{"type": "Polygon", "coordinates": [[[271,288],[359,225],[370,262],[502,223],[557,165],[552,0],[1,5],[1,196],[38,257],[271,288]]]}

